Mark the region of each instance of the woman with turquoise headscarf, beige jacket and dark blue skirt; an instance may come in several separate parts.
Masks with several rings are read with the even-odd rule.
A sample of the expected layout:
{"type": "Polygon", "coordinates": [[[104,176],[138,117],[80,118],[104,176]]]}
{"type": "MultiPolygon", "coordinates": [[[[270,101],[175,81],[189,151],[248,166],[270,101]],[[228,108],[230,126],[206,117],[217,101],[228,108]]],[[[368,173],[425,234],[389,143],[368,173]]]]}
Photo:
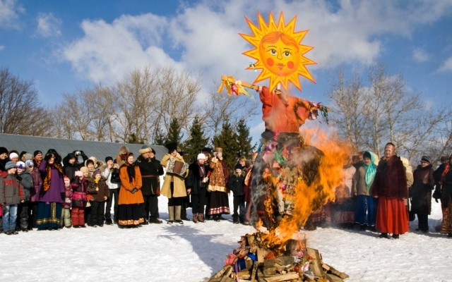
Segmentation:
{"type": "Polygon", "coordinates": [[[361,230],[367,227],[375,228],[376,198],[371,197],[371,186],[374,183],[376,164],[375,155],[369,151],[362,154],[364,164],[355,173],[352,190],[357,196],[357,209],[355,221],[359,223],[361,230]]]}

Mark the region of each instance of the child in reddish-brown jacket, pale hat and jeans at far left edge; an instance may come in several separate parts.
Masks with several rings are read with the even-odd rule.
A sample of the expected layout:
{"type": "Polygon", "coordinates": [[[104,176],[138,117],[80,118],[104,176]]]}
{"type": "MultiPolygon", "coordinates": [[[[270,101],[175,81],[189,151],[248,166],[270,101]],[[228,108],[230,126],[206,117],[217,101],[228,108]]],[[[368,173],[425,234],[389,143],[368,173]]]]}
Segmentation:
{"type": "Polygon", "coordinates": [[[17,209],[23,200],[23,187],[16,178],[16,164],[8,161],[6,178],[0,177],[0,203],[3,212],[3,230],[6,235],[18,234],[16,231],[17,209]]]}

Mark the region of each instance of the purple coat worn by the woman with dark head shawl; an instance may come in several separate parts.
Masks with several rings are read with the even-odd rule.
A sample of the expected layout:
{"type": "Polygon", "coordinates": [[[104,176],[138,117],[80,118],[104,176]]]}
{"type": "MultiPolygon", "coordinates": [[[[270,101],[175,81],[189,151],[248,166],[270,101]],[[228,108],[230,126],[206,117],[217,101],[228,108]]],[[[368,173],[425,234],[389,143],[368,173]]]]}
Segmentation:
{"type": "MultiPolygon", "coordinates": [[[[47,166],[47,161],[42,160],[40,164],[40,173],[45,175],[45,168],[47,166]]],[[[44,195],[41,195],[41,187],[36,191],[36,201],[37,202],[59,202],[63,203],[64,201],[61,199],[61,193],[66,192],[64,188],[64,180],[63,175],[58,171],[57,168],[52,167],[52,176],[50,177],[50,187],[44,195]]],[[[44,182],[44,181],[43,181],[44,182]]]]}

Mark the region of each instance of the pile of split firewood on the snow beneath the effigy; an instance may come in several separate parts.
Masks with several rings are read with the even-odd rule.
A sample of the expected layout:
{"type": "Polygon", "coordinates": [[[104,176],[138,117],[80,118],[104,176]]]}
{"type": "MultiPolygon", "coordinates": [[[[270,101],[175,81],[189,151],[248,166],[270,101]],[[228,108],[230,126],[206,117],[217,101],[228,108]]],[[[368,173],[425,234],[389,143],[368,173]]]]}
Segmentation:
{"type": "Polygon", "coordinates": [[[204,282],[340,282],[348,277],[323,263],[319,251],[305,247],[305,241],[288,240],[283,251],[275,251],[259,239],[259,233],[242,236],[225,266],[204,282]]]}

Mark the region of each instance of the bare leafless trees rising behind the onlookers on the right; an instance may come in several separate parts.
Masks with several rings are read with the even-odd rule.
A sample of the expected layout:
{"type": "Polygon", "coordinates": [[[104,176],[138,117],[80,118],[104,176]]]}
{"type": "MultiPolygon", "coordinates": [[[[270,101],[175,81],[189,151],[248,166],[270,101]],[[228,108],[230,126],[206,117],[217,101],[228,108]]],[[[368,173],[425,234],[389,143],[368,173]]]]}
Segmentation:
{"type": "Polygon", "coordinates": [[[403,77],[389,76],[381,64],[369,68],[368,78],[369,87],[364,87],[359,75],[346,82],[339,71],[329,94],[335,110],[332,116],[337,116],[333,121],[355,149],[371,149],[379,155],[386,142],[393,142],[398,154],[411,161],[451,145],[444,141],[450,138],[451,110],[425,109],[420,95],[408,91],[403,77]],[[443,136],[434,145],[438,131],[443,136]]]}

